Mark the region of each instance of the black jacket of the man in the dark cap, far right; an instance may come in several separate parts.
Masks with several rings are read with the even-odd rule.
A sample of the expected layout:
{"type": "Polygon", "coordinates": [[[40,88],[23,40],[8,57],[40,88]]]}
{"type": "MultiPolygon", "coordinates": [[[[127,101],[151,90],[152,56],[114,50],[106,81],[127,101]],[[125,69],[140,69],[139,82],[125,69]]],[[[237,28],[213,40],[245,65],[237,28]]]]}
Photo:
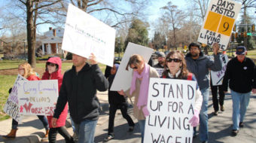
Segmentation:
{"type": "Polygon", "coordinates": [[[237,93],[251,92],[252,88],[256,88],[255,69],[254,62],[248,57],[245,57],[242,62],[239,62],[237,57],[231,59],[227,62],[223,79],[224,91],[227,91],[229,82],[230,90],[237,93]]]}

